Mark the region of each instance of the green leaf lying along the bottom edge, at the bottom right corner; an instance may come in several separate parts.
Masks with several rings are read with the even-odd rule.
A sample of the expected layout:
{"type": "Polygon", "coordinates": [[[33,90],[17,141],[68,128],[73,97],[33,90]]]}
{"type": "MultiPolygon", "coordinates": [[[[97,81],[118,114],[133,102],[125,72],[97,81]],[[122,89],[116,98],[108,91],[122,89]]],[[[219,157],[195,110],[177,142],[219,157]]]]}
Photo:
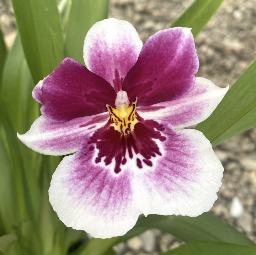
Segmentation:
{"type": "Polygon", "coordinates": [[[214,241],[194,241],[162,255],[255,255],[255,246],[222,243],[214,241]]]}

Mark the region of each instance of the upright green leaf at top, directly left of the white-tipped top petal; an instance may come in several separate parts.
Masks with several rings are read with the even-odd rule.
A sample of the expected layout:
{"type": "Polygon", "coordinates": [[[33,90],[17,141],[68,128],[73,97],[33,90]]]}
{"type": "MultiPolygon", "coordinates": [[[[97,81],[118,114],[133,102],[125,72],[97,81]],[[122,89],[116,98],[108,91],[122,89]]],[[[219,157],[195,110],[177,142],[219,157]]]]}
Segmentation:
{"type": "Polygon", "coordinates": [[[66,31],[65,56],[80,63],[83,60],[83,45],[87,31],[97,21],[107,18],[108,0],[72,1],[66,31]]]}

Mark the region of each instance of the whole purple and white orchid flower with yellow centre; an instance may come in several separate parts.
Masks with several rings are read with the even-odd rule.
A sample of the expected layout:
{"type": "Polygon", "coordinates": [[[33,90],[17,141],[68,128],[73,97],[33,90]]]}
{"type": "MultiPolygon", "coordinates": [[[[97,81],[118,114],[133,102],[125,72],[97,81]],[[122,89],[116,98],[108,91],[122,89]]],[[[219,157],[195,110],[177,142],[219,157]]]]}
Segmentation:
{"type": "Polygon", "coordinates": [[[33,89],[42,115],[18,138],[46,155],[66,155],[49,200],[61,221],[96,238],[123,235],[140,214],[198,216],[217,199],[223,167],[202,132],[228,88],[196,78],[189,28],[143,45],[114,18],[92,26],[84,67],[66,58],[33,89]]]}

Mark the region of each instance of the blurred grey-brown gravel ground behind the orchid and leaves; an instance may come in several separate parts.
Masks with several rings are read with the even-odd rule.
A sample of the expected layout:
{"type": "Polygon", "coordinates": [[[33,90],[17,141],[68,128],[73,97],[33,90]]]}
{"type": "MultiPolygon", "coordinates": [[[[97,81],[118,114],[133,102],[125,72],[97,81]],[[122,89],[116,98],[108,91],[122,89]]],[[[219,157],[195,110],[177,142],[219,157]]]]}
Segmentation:
{"type": "MultiPolygon", "coordinates": [[[[109,16],[131,22],[145,42],[150,35],[168,28],[191,2],[110,0],[109,16]]],[[[226,0],[196,38],[200,61],[197,76],[206,77],[220,87],[232,85],[256,58],[255,24],[256,0],[226,0]]],[[[15,20],[9,0],[0,0],[0,26],[10,47],[15,37],[15,20]]],[[[224,177],[211,212],[256,242],[256,127],[214,150],[223,163],[224,177]],[[240,215],[230,210],[233,200],[242,206],[240,215]]],[[[157,255],[180,244],[170,234],[153,229],[115,249],[119,255],[157,255]]]]}

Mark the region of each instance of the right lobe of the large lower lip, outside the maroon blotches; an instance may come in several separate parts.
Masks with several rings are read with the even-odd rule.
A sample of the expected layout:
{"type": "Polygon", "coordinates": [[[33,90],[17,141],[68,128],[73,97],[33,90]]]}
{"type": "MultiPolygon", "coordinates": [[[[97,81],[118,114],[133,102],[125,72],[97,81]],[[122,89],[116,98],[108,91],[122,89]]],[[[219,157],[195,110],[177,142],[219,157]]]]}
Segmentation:
{"type": "Polygon", "coordinates": [[[217,199],[223,166],[202,132],[176,131],[165,121],[162,157],[151,171],[134,174],[132,187],[145,215],[198,216],[217,199]]]}

